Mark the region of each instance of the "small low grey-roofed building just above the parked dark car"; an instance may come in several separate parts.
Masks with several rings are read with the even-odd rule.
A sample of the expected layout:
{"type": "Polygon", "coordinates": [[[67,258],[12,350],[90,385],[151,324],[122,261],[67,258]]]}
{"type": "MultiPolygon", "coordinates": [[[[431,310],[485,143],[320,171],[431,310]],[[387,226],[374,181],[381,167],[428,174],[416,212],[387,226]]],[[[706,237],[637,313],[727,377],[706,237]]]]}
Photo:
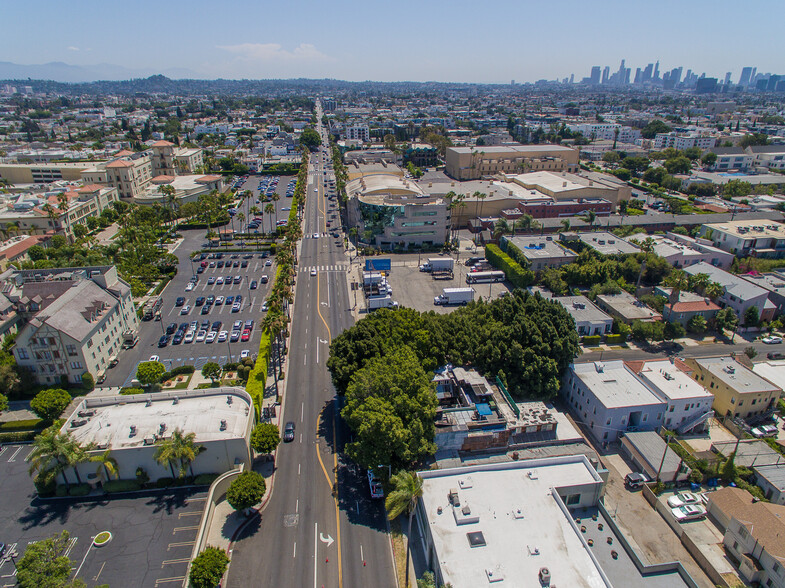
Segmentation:
{"type": "Polygon", "coordinates": [[[621,453],[650,480],[678,483],[690,476],[690,468],[655,431],[624,433],[621,437],[621,453]]]}

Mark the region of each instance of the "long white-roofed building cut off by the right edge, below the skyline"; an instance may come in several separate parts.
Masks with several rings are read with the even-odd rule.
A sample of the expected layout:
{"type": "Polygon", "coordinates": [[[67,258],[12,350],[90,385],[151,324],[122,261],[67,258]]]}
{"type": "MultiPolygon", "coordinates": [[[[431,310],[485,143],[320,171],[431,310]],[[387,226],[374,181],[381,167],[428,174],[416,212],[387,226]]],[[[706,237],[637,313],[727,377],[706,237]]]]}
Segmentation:
{"type": "Polygon", "coordinates": [[[767,220],[736,220],[701,225],[701,237],[739,257],[785,256],[785,224],[767,220]]]}

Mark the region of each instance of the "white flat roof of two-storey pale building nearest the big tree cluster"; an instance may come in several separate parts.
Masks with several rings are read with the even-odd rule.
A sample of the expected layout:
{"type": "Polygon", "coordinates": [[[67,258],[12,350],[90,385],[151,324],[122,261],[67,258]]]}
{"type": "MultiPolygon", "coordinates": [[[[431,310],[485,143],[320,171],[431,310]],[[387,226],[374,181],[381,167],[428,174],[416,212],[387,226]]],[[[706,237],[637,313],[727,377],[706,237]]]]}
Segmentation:
{"type": "Polygon", "coordinates": [[[664,404],[621,360],[575,363],[571,369],[606,408],[664,404]]]}

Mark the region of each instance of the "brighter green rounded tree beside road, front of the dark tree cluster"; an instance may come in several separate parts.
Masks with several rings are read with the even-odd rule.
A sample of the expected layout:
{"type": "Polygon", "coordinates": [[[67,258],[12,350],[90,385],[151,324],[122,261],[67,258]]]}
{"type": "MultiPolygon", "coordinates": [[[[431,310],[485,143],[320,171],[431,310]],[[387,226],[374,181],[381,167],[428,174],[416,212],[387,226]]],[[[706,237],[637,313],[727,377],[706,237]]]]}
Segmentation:
{"type": "Polygon", "coordinates": [[[354,441],[347,453],[365,468],[407,467],[436,451],[436,393],[411,348],[402,346],[358,370],[342,411],[354,441]]]}

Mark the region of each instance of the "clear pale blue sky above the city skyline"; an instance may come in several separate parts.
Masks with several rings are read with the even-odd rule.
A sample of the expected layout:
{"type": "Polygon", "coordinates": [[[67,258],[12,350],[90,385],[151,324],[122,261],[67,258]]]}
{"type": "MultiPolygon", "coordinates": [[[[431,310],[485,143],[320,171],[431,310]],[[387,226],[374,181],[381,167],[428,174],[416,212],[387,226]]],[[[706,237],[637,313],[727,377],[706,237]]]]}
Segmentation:
{"type": "Polygon", "coordinates": [[[26,0],[2,2],[0,61],[173,77],[518,82],[660,61],[785,73],[782,0],[26,0]],[[741,7],[743,6],[743,9],[741,7]],[[768,16],[767,16],[768,15],[768,16]],[[767,20],[771,18],[771,20],[767,20]],[[768,31],[768,32],[765,32],[768,31]],[[182,70],[186,70],[183,72],[182,70]]]}

